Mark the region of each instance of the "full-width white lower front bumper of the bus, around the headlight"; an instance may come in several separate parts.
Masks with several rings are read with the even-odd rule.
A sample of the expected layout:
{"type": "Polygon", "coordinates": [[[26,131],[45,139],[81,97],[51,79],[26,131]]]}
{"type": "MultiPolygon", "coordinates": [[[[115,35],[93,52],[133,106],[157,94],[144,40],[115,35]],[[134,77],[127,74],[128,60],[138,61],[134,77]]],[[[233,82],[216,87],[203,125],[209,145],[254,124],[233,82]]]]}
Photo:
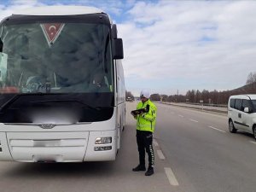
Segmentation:
{"type": "Polygon", "coordinates": [[[116,131],[0,132],[0,160],[83,162],[115,160],[116,131]],[[96,138],[112,137],[96,144],[96,138]]]}

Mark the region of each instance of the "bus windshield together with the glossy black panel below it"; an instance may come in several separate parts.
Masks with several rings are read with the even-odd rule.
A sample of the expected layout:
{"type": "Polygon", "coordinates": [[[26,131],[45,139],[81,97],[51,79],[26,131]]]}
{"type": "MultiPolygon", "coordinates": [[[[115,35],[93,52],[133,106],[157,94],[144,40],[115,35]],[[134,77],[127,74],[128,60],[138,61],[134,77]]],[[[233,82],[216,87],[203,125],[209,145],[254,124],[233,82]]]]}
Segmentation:
{"type": "Polygon", "coordinates": [[[3,22],[0,38],[0,122],[58,119],[66,124],[67,117],[69,123],[111,118],[113,60],[108,25],[3,22]]]}

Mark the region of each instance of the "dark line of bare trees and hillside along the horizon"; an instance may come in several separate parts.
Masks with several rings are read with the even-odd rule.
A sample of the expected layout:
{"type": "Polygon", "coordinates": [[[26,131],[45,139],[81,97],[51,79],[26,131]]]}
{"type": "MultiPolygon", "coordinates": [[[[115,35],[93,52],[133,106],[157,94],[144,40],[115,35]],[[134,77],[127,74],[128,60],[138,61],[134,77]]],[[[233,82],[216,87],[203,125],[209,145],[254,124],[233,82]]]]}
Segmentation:
{"type": "MultiPolygon", "coordinates": [[[[131,92],[126,91],[126,98],[129,95],[131,98],[131,92]]],[[[247,82],[244,86],[235,90],[188,90],[186,95],[160,95],[158,93],[152,94],[150,99],[154,102],[193,102],[193,103],[209,103],[209,104],[227,104],[230,96],[240,94],[256,94],[256,72],[249,73],[247,76],[247,82]]]]}

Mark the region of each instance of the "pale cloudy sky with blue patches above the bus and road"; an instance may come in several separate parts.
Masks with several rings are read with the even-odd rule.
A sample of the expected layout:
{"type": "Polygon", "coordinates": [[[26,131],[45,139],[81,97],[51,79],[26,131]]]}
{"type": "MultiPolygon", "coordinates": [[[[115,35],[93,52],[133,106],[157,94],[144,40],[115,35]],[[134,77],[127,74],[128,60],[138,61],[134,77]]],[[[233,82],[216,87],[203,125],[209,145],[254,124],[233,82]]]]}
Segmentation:
{"type": "Polygon", "coordinates": [[[123,38],[126,90],[232,90],[256,72],[256,1],[0,0],[0,19],[42,5],[103,9],[123,38]]]}

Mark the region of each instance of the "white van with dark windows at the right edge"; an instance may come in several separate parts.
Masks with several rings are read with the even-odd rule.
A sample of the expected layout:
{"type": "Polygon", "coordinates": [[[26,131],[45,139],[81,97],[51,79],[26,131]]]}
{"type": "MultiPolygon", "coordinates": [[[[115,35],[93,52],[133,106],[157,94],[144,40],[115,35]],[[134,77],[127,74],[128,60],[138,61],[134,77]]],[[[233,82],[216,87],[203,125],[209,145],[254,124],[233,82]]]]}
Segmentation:
{"type": "Polygon", "coordinates": [[[256,139],[256,95],[230,96],[228,117],[230,132],[247,131],[256,139]]]}

